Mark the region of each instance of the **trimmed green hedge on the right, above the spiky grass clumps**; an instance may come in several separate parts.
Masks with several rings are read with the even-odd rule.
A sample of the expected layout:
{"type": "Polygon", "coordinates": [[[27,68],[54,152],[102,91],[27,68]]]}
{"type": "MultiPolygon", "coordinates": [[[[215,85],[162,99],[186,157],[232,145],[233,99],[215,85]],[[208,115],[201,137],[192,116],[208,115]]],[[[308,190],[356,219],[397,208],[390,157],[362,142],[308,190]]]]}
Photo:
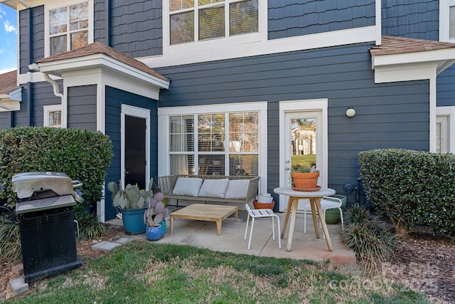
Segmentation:
{"type": "Polygon", "coordinates": [[[365,194],[398,233],[426,224],[455,236],[454,154],[370,150],[359,153],[359,164],[365,194]]]}

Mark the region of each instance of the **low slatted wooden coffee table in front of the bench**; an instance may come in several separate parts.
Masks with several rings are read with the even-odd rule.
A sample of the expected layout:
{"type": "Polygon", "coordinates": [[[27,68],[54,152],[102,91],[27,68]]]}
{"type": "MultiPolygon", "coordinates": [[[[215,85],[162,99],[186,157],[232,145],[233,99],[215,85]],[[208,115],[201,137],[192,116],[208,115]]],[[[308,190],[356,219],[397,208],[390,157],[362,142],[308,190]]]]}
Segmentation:
{"type": "Polygon", "coordinates": [[[171,213],[171,236],[173,221],[175,219],[194,219],[196,221],[215,221],[218,236],[221,235],[221,222],[231,214],[235,221],[238,219],[239,208],[237,206],[220,206],[210,204],[191,204],[171,213]]]}

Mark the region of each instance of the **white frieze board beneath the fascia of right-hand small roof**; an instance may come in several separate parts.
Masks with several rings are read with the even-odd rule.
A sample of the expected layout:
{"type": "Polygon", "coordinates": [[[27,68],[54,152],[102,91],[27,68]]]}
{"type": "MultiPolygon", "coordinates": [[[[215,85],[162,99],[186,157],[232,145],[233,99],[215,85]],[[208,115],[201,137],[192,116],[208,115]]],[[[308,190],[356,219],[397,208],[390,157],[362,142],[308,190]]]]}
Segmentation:
{"type": "Polygon", "coordinates": [[[437,62],[383,65],[375,68],[375,83],[395,83],[436,77],[437,62]]]}

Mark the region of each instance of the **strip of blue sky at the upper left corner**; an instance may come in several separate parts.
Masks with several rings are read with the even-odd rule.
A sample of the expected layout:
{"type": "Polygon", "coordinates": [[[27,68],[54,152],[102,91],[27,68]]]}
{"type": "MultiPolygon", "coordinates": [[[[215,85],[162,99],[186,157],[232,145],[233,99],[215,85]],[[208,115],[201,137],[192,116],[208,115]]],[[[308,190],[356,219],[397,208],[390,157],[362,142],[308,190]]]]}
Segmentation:
{"type": "Polygon", "coordinates": [[[0,74],[17,68],[16,10],[0,4],[0,74]]]}

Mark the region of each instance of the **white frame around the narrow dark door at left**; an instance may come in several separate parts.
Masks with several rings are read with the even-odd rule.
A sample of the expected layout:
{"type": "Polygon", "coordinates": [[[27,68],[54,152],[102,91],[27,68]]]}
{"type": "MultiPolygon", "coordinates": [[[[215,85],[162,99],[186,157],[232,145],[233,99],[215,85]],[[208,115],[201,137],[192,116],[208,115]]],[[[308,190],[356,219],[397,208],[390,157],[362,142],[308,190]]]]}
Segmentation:
{"type": "Polygon", "coordinates": [[[150,182],[150,110],[144,108],[137,108],[132,105],[122,105],[122,113],[120,115],[120,179],[122,179],[122,184],[120,187],[124,188],[125,180],[125,115],[144,118],[146,123],[145,130],[145,159],[146,159],[146,168],[145,168],[145,186],[149,187],[150,182]]]}

